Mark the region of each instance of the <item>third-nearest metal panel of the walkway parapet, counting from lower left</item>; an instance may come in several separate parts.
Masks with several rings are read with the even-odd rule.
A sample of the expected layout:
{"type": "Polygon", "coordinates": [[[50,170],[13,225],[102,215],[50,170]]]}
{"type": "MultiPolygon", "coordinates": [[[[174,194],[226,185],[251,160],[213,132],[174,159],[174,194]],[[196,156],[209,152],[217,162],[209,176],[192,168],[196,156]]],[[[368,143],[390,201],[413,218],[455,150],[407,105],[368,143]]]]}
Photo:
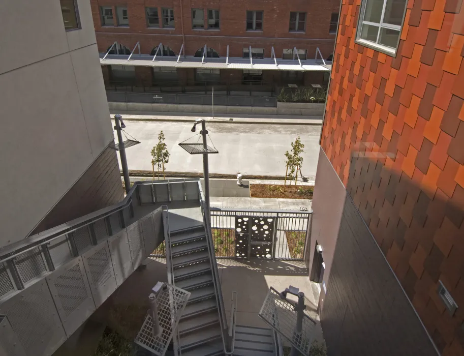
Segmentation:
{"type": "Polygon", "coordinates": [[[87,251],[82,260],[98,308],[117,288],[108,243],[105,241],[87,251]]]}

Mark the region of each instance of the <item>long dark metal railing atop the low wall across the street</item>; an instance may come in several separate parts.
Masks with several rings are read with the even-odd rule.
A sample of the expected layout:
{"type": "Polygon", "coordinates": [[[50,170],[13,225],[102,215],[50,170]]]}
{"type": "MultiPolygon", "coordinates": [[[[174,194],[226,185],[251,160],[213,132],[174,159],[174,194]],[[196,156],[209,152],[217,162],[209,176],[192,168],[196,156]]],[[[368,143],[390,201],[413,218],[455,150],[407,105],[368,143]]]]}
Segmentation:
{"type": "MultiPolygon", "coordinates": [[[[106,92],[109,102],[177,105],[212,105],[211,95],[106,92]]],[[[277,107],[277,98],[238,95],[214,95],[214,105],[277,107]]]]}

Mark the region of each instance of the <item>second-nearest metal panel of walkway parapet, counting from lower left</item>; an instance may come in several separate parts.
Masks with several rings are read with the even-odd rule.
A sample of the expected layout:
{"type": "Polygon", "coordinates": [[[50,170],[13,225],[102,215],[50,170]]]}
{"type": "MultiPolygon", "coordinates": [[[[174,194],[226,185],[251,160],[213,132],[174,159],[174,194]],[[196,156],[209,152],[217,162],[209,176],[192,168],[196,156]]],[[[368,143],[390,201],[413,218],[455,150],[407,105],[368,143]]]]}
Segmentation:
{"type": "Polygon", "coordinates": [[[69,337],[95,311],[81,257],[54,271],[47,283],[69,337]]]}

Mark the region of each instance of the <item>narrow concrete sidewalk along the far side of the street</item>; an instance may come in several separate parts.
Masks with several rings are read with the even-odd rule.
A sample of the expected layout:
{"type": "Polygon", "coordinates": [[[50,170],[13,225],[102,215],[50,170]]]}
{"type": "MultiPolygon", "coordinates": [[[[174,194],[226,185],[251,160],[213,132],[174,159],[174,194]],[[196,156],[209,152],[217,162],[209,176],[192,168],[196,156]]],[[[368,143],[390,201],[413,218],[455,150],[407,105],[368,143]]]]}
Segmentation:
{"type": "MultiPolygon", "coordinates": [[[[111,115],[120,112],[111,110],[111,115]]],[[[129,111],[122,113],[123,120],[128,121],[158,121],[158,122],[189,122],[193,123],[196,119],[206,119],[214,123],[227,124],[280,124],[280,125],[322,125],[322,116],[301,116],[301,115],[240,115],[240,114],[218,114],[212,117],[208,114],[186,114],[175,112],[143,112],[129,111]]]]}

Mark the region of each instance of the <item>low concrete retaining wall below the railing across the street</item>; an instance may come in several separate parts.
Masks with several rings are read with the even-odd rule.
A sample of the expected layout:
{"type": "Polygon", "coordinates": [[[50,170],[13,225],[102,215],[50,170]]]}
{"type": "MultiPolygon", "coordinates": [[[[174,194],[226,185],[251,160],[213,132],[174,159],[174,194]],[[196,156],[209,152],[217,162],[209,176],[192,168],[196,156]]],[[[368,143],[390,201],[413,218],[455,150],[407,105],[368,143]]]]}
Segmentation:
{"type": "MultiPolygon", "coordinates": [[[[151,103],[120,103],[109,102],[110,110],[114,111],[145,111],[145,112],[189,112],[211,113],[211,105],[178,105],[151,103]]],[[[277,107],[263,106],[222,106],[214,105],[216,114],[253,114],[253,115],[307,115],[322,116],[325,104],[307,103],[277,103],[277,107]]]]}

